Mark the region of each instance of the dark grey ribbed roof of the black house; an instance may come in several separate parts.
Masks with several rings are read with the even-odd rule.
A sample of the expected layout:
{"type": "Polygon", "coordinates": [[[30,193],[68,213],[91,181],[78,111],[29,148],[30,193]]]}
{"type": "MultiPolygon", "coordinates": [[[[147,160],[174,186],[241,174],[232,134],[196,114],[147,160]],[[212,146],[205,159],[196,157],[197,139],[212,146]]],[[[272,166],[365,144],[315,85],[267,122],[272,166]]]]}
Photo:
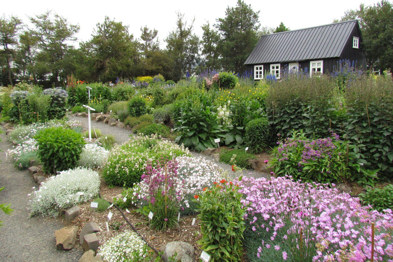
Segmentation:
{"type": "Polygon", "coordinates": [[[264,35],[244,64],[339,57],[357,20],[264,35]]]}

